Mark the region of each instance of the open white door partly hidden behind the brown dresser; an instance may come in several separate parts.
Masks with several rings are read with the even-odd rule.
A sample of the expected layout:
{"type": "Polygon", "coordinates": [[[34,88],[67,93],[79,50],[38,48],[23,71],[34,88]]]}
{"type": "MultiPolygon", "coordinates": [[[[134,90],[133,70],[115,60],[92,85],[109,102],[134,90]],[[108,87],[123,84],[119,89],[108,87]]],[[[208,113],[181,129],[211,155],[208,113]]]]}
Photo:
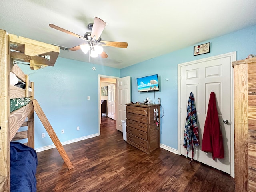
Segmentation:
{"type": "Polygon", "coordinates": [[[126,103],[131,102],[131,77],[116,80],[116,129],[122,131],[121,120],[126,120],[126,103]]]}

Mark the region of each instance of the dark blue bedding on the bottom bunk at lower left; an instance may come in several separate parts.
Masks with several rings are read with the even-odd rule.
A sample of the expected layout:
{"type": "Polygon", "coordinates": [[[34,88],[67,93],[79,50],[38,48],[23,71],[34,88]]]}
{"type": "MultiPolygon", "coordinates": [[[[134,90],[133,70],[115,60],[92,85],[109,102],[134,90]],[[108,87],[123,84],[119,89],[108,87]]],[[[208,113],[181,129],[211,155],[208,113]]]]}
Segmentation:
{"type": "Polygon", "coordinates": [[[24,144],[11,142],[11,192],[36,192],[36,151],[24,144]]]}

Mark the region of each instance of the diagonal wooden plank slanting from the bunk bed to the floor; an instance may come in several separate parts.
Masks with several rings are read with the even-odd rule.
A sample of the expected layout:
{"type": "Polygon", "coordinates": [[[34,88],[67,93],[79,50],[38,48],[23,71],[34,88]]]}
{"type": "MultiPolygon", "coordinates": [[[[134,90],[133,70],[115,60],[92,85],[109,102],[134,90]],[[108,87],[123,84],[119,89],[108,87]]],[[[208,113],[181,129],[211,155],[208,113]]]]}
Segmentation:
{"type": "Polygon", "coordinates": [[[68,158],[68,155],[66,154],[66,151],[64,150],[60,140],[58,139],[56,133],[54,132],[50,122],[48,121],[42,108],[38,104],[38,101],[36,99],[34,99],[34,100],[32,100],[32,102],[33,102],[34,110],[35,110],[38,118],[44,125],[44,128],[46,129],[47,133],[49,134],[50,138],[52,139],[52,142],[56,146],[56,148],[57,148],[58,152],[60,153],[60,156],[64,160],[65,164],[68,166],[68,169],[70,170],[70,169],[74,168],[72,163],[70,162],[70,159],[68,158]]]}

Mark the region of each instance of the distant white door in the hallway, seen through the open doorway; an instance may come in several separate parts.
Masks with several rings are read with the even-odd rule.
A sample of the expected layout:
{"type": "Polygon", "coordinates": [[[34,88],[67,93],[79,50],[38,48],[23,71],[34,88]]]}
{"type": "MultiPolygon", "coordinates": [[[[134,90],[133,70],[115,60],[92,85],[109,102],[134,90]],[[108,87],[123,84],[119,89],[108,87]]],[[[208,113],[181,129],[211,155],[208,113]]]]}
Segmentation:
{"type": "Polygon", "coordinates": [[[115,84],[108,85],[108,117],[115,120],[115,84]]]}

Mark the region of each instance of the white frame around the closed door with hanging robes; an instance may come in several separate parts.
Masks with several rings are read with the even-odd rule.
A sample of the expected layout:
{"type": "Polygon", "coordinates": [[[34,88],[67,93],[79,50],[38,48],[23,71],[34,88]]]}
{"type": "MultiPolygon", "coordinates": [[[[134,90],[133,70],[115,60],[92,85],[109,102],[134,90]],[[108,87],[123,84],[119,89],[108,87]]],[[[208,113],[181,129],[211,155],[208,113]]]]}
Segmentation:
{"type": "MultiPolygon", "coordinates": [[[[215,60],[215,59],[220,59],[220,58],[225,58],[230,56],[231,61],[236,61],[236,52],[230,52],[230,53],[226,53],[226,54],[221,54],[221,55],[217,55],[217,56],[212,56],[212,57],[208,57],[208,58],[204,58],[204,59],[199,59],[199,60],[194,60],[194,61],[190,61],[190,62],[186,62],[186,63],[182,63],[182,64],[178,64],[178,154],[181,155],[181,144],[180,142],[182,142],[180,140],[181,135],[181,116],[180,116],[180,108],[181,108],[181,80],[180,80],[180,76],[181,76],[181,67],[182,66],[187,66],[187,65],[192,65],[192,64],[196,64],[196,63],[200,63],[200,62],[207,62],[210,60],[215,60]]],[[[231,98],[231,108],[232,108],[232,112],[231,112],[231,117],[232,117],[232,123],[231,123],[231,156],[230,156],[230,175],[234,178],[235,176],[235,172],[234,172],[234,73],[233,73],[233,67],[230,63],[230,68],[231,68],[231,72],[232,72],[232,76],[231,76],[231,82],[232,82],[232,98],[231,98]]]]}

